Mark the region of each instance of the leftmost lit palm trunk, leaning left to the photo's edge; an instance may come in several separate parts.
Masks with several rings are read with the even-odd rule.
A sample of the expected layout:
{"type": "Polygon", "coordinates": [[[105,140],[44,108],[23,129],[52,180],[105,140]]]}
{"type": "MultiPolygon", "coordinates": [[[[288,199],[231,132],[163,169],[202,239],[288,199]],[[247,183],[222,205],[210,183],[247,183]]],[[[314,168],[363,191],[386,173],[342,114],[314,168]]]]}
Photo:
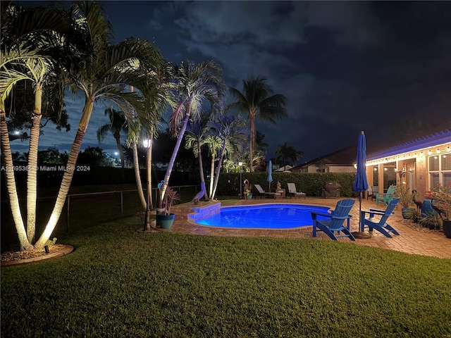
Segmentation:
{"type": "Polygon", "coordinates": [[[9,197],[9,204],[11,205],[11,212],[13,213],[14,225],[18,234],[20,251],[32,250],[33,246],[28,242],[27,234],[25,232],[25,225],[23,224],[22,215],[20,213],[19,198],[16,189],[16,178],[13,170],[13,156],[11,154],[11,144],[9,143],[8,126],[6,125],[6,115],[4,110],[4,101],[0,98],[0,137],[1,137],[1,155],[4,158],[6,189],[9,197]]]}

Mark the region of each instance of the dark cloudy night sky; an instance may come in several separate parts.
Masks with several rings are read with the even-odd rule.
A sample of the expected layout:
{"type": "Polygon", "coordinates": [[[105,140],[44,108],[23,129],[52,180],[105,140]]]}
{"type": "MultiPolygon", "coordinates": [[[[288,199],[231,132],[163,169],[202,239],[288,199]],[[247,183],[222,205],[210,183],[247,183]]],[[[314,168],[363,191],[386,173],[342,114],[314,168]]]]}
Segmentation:
{"type": "MultiPolygon", "coordinates": [[[[22,1],[20,1],[22,2],[22,1]]],[[[270,146],[287,142],[309,161],[357,145],[368,149],[423,136],[451,121],[451,1],[104,1],[116,42],[153,42],[173,63],[214,59],[226,84],[248,75],[287,96],[288,118],[257,120],[270,146]]],[[[40,148],[70,149],[82,105],[68,99],[72,130],[44,128],[40,148]]],[[[97,106],[82,148],[107,123],[97,106]]],[[[125,135],[123,137],[125,140],[125,135]]],[[[27,151],[26,143],[13,142],[27,151]],[[24,149],[25,148],[25,149],[24,149]]]]}

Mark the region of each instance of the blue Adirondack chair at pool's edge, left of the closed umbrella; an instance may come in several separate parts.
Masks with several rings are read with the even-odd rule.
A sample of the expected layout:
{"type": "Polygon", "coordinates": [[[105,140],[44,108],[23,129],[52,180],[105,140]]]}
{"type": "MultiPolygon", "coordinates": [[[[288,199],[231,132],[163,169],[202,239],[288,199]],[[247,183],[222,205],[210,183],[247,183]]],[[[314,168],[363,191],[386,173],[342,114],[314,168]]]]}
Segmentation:
{"type": "Polygon", "coordinates": [[[354,236],[350,232],[350,218],[349,215],[352,206],[354,206],[354,199],[342,199],[337,202],[335,209],[330,213],[321,213],[316,211],[311,211],[311,219],[313,220],[313,237],[316,237],[316,228],[319,231],[325,232],[328,237],[337,240],[338,237],[349,237],[352,241],[355,241],[354,236]],[[327,219],[318,219],[321,215],[327,219]],[[347,220],[347,225],[343,225],[347,220]],[[344,234],[340,234],[342,231],[344,234]],[[335,235],[334,232],[337,232],[335,235]]]}

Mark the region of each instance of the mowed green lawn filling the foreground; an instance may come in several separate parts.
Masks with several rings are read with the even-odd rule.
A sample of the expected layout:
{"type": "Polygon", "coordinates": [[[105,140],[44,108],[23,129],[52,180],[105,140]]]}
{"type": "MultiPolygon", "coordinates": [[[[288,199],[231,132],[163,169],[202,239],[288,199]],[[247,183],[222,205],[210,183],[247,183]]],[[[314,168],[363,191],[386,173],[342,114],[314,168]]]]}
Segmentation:
{"type": "Polygon", "coordinates": [[[318,239],[141,233],[61,239],[1,269],[1,337],[450,337],[451,260],[318,239]]]}

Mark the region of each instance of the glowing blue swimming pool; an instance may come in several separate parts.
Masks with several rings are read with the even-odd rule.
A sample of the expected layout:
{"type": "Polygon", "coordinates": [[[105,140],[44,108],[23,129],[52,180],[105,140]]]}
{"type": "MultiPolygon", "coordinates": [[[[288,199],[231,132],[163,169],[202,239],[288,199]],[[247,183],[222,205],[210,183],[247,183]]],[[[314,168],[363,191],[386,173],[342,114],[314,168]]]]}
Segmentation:
{"type": "MultiPolygon", "coordinates": [[[[226,206],[219,213],[202,220],[199,225],[240,229],[293,229],[312,225],[310,211],[326,213],[328,206],[302,204],[260,204],[255,206],[226,206]]],[[[191,217],[194,219],[194,217],[191,217]]],[[[319,216],[319,219],[323,217],[319,216]]]]}

